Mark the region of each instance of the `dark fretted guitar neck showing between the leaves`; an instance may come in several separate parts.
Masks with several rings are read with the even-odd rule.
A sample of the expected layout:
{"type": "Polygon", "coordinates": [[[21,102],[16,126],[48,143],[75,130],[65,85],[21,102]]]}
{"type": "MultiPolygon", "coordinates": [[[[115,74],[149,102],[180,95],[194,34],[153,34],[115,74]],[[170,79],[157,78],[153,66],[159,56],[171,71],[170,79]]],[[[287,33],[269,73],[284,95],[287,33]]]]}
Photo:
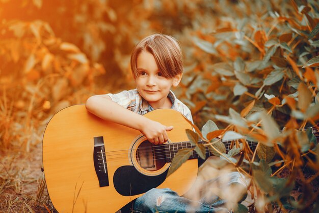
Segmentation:
{"type": "MultiPolygon", "coordinates": [[[[222,143],[225,145],[226,148],[226,153],[228,153],[228,151],[231,149],[231,140],[228,141],[222,141],[222,143]]],[[[257,146],[257,142],[256,141],[247,141],[248,146],[250,147],[250,149],[254,150],[257,146]]],[[[207,144],[206,141],[204,140],[199,140],[198,144],[207,144]]],[[[178,143],[171,143],[171,144],[166,144],[165,145],[165,155],[166,155],[166,162],[172,162],[172,159],[174,158],[174,156],[177,154],[177,152],[179,150],[182,149],[194,149],[195,146],[192,145],[190,143],[190,141],[182,141],[182,142],[178,142],[178,143]]],[[[206,158],[209,156],[212,156],[214,154],[212,154],[208,147],[205,147],[206,151],[206,158]]],[[[195,159],[195,158],[199,158],[198,153],[193,150],[192,155],[190,156],[189,159],[195,159]]]]}

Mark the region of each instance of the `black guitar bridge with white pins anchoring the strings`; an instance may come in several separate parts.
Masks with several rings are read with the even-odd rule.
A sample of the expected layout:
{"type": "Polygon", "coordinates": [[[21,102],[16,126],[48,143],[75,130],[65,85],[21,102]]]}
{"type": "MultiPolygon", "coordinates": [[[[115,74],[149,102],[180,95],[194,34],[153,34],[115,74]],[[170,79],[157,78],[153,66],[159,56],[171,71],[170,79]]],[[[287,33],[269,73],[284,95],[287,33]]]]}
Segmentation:
{"type": "Polygon", "coordinates": [[[105,155],[103,136],[94,137],[94,168],[100,187],[109,186],[107,158],[105,155]]]}

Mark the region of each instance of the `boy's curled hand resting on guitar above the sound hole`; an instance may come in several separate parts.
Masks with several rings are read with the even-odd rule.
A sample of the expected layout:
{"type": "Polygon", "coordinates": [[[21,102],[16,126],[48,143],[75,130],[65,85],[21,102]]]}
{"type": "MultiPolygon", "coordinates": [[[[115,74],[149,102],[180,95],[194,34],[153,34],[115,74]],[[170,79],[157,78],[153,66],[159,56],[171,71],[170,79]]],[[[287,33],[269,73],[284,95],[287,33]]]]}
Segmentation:
{"type": "Polygon", "coordinates": [[[155,145],[161,145],[168,140],[168,135],[166,131],[171,131],[173,126],[165,126],[161,123],[148,120],[142,126],[141,132],[150,141],[150,143],[155,145]]]}

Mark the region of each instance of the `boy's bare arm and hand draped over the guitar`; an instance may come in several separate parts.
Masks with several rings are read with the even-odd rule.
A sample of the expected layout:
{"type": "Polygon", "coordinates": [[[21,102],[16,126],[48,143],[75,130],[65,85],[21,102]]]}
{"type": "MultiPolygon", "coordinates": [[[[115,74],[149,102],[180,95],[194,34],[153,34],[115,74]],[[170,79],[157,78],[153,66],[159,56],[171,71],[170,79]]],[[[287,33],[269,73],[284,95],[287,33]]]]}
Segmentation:
{"type": "Polygon", "coordinates": [[[106,94],[90,97],[86,102],[86,108],[101,119],[139,130],[150,143],[155,145],[166,142],[168,140],[166,131],[173,129],[172,126],[164,126],[120,106],[106,94]]]}

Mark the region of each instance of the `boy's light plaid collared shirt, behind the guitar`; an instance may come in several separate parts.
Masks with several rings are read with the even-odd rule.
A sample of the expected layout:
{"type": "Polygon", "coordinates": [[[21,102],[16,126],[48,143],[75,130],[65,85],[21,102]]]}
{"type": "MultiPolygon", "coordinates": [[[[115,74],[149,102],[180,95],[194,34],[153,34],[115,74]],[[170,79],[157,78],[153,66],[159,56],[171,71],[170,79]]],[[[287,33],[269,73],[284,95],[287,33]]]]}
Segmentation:
{"type": "MultiPolygon", "coordinates": [[[[153,110],[151,105],[141,97],[137,89],[124,90],[117,94],[109,93],[107,95],[110,96],[112,101],[141,115],[153,110]]],[[[179,101],[171,90],[168,94],[168,98],[172,102],[172,109],[179,111],[193,123],[191,110],[179,101]]]]}

